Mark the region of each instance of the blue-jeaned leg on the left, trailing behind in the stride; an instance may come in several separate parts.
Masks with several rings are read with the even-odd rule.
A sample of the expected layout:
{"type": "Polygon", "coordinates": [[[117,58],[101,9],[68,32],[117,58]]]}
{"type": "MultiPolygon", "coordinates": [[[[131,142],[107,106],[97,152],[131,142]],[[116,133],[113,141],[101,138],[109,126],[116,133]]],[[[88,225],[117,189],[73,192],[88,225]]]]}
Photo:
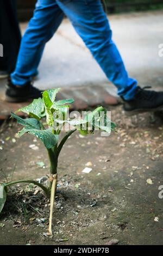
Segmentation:
{"type": "Polygon", "coordinates": [[[22,38],[12,84],[24,86],[36,73],[46,42],[59,27],[64,13],[55,0],[38,0],[33,18],[22,38]]]}

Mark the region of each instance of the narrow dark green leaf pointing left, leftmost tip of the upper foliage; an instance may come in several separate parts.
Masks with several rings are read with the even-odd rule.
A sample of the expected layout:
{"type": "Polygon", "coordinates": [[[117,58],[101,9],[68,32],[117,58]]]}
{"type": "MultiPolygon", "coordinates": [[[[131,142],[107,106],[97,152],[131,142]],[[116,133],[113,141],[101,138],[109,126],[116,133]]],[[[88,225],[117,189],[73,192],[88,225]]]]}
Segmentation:
{"type": "Polygon", "coordinates": [[[11,116],[14,117],[17,120],[18,124],[21,124],[28,129],[41,129],[40,121],[36,120],[35,118],[26,118],[23,119],[21,117],[18,117],[18,115],[11,112],[11,116]]]}

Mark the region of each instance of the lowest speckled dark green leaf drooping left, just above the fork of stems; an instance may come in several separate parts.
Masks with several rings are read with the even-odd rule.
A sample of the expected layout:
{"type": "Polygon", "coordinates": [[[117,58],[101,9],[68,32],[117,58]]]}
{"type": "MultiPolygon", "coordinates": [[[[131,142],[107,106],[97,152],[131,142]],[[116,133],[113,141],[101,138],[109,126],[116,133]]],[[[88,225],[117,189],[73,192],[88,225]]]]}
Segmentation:
{"type": "Polygon", "coordinates": [[[40,139],[47,149],[53,148],[59,140],[59,136],[52,133],[52,127],[47,130],[28,129],[24,127],[20,132],[18,132],[18,136],[20,137],[24,133],[29,133],[40,139]]]}

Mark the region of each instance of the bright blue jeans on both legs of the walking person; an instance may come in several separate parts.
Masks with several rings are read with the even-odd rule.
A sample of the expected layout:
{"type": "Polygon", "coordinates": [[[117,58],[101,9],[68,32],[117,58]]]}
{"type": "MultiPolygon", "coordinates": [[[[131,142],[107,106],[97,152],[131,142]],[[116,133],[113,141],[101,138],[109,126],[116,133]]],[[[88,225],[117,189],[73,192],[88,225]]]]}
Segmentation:
{"type": "MultiPolygon", "coordinates": [[[[130,78],[112,41],[109,21],[100,0],[37,0],[34,16],[23,36],[12,83],[23,86],[30,81],[40,63],[46,42],[57,31],[64,14],[83,39],[106,77],[126,100],[134,97],[137,81],[130,78]]],[[[121,29],[121,28],[120,28],[121,29]]]]}

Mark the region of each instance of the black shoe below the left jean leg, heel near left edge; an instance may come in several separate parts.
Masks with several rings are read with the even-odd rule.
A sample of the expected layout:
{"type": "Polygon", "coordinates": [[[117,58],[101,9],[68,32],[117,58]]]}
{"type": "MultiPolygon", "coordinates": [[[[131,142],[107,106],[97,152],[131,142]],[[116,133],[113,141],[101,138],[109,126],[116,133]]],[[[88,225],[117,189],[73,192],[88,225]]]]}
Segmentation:
{"type": "Polygon", "coordinates": [[[16,87],[10,80],[8,80],[6,87],[5,100],[8,102],[24,102],[41,97],[41,90],[33,87],[30,82],[25,86],[16,87]]]}

